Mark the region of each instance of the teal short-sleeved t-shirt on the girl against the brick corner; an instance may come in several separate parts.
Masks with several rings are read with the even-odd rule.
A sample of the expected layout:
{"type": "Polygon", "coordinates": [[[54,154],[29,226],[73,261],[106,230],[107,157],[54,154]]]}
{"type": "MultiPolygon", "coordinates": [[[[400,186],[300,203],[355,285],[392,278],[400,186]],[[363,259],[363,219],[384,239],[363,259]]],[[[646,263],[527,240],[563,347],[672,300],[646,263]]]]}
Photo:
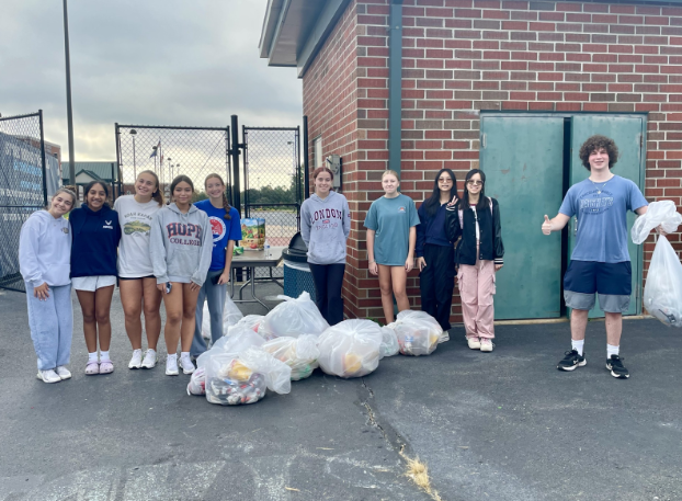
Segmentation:
{"type": "Polygon", "coordinates": [[[374,260],[387,266],[402,266],[409,251],[410,228],[419,225],[414,202],[407,195],[372,202],[365,228],[376,231],[374,260]]]}

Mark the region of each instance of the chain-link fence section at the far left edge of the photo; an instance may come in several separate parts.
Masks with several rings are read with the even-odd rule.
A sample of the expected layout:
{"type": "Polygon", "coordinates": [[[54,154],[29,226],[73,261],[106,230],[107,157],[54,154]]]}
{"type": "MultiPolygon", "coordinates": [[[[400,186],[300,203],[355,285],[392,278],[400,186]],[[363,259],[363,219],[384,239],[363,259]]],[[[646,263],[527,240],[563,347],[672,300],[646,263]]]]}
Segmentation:
{"type": "Polygon", "coordinates": [[[60,178],[59,161],[45,158],[43,112],[1,117],[0,288],[25,292],[19,272],[21,226],[32,213],[47,205],[48,193],[55,192],[60,178]]]}

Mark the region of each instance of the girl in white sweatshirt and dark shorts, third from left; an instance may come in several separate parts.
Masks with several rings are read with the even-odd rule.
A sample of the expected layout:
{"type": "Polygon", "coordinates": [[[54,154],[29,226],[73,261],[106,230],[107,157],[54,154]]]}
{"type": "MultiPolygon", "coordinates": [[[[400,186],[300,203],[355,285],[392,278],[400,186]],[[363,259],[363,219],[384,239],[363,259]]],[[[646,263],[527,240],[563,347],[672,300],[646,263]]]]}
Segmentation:
{"type": "Polygon", "coordinates": [[[157,364],[157,343],[161,335],[161,294],[154,276],[149,236],[151,221],[163,206],[159,178],[145,170],[135,180],[135,195],[116,198],[121,243],[118,244],[118,287],[125,318],[125,331],[133,345],[128,368],[152,368],[157,364]],[[147,333],[147,353],[143,360],[143,322],[147,333]]]}

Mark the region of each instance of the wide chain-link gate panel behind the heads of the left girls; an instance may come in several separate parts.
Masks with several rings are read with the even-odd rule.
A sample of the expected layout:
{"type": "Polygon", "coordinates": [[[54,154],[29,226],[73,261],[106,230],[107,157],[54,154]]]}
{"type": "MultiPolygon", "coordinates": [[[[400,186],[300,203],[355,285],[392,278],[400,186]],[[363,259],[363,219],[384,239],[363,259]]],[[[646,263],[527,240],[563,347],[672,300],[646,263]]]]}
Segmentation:
{"type": "Polygon", "coordinates": [[[121,195],[135,194],[135,180],[144,170],[159,177],[167,201],[171,182],[180,174],[194,183],[194,202],[206,198],[204,180],[211,173],[220,174],[231,184],[229,127],[116,124],[115,128],[121,195]]]}

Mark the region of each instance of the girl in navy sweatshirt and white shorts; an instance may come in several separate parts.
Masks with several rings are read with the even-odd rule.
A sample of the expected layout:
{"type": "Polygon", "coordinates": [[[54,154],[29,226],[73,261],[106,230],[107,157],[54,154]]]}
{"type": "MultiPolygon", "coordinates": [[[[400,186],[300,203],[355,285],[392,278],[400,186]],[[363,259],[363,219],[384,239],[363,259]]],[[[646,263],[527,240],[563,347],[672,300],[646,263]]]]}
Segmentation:
{"type": "Polygon", "coordinates": [[[106,184],[92,181],[86,186],[86,203],[71,212],[71,282],[83,312],[88,346],[86,374],[110,374],[114,364],[110,310],[116,285],[116,250],[121,240],[118,213],[106,203],[106,184]],[[100,356],[98,360],[98,331],[100,356]]]}

